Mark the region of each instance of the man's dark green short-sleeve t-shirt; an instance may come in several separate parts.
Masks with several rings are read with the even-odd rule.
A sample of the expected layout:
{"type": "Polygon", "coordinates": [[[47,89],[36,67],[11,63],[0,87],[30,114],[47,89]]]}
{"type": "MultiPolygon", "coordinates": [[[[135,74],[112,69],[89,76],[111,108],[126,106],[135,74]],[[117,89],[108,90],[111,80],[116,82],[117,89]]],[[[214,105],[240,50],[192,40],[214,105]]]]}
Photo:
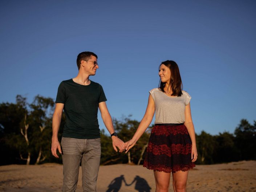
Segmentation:
{"type": "Polygon", "coordinates": [[[90,81],[80,85],[73,79],[62,81],[55,103],[64,103],[66,123],[62,136],[76,139],[100,138],[99,103],[107,101],[102,86],[90,81]]]}

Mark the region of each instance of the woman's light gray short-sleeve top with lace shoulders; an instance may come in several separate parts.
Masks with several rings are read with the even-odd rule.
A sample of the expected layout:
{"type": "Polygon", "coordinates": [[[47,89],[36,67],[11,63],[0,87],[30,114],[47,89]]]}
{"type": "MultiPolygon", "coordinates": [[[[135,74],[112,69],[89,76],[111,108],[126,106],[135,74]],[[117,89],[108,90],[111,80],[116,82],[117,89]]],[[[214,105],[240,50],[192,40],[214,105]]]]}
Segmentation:
{"type": "Polygon", "coordinates": [[[190,95],[182,91],[180,97],[169,97],[158,88],[149,91],[155,102],[155,124],[184,123],[185,106],[190,102],[190,95]]]}

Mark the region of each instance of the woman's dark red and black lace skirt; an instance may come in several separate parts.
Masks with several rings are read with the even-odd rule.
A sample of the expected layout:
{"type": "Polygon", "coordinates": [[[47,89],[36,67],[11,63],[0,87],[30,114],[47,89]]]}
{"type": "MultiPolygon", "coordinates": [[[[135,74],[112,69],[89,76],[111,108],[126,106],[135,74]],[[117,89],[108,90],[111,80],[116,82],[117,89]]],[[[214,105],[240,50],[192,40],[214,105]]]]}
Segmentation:
{"type": "Polygon", "coordinates": [[[187,171],[195,167],[191,162],[192,142],[187,127],[155,125],[149,138],[143,167],[154,171],[187,171]]]}

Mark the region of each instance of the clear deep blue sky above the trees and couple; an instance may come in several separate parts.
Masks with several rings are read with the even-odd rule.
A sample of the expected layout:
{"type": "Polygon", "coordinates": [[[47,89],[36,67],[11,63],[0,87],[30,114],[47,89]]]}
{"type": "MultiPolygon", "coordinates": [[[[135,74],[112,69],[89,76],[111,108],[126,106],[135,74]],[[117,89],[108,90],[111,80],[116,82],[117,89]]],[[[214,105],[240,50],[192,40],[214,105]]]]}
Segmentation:
{"type": "Polygon", "coordinates": [[[141,120],[159,64],[174,60],[195,131],[232,133],[242,118],[256,120],[255,9],[253,0],[1,1],[0,102],[55,99],[78,73],[77,54],[92,51],[91,79],[111,116],[141,120]]]}

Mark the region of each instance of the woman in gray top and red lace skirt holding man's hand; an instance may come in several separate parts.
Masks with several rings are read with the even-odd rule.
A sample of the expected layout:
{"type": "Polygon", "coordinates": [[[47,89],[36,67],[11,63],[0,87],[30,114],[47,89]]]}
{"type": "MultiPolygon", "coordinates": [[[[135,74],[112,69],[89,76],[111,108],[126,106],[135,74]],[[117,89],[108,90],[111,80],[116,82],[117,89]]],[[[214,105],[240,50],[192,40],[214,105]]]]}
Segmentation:
{"type": "Polygon", "coordinates": [[[186,192],[188,169],[195,167],[197,159],[191,97],[182,90],[176,62],[162,62],[158,74],[159,87],[149,91],[146,113],[133,138],[126,142],[126,153],[149,127],[155,113],[143,167],[154,170],[156,192],[168,191],[171,172],[174,192],[186,192]]]}

